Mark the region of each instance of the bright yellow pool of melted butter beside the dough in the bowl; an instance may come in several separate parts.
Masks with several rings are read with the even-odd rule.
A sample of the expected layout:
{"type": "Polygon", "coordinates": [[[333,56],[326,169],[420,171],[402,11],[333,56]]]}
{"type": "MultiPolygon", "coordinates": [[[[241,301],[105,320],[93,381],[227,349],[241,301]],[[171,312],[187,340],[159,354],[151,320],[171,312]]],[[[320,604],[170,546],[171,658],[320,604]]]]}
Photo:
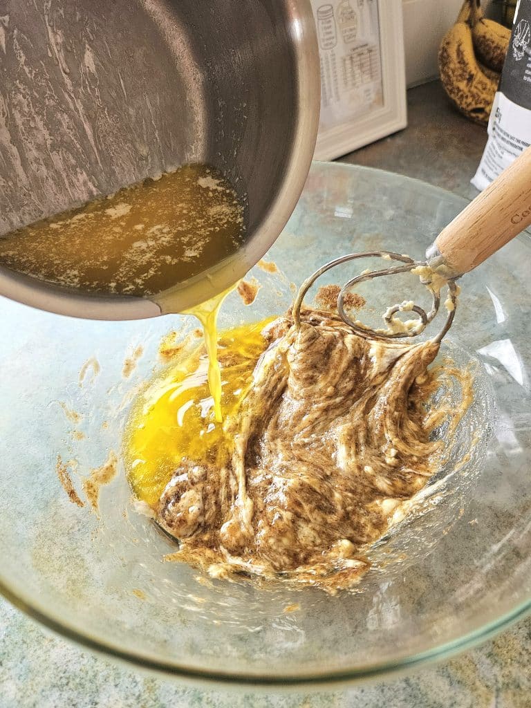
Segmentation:
{"type": "MultiPolygon", "coordinates": [[[[212,309],[212,308],[208,308],[212,309]]],[[[265,349],[262,331],[273,317],[245,324],[219,334],[212,320],[205,338],[217,339],[219,383],[209,387],[210,357],[215,350],[195,346],[178,355],[147,384],[132,409],[125,433],[124,460],[135,496],[156,505],[183,458],[219,464],[225,445],[222,422],[217,420],[215,399],[224,416],[233,413],[251,384],[256,362],[265,349]],[[219,385],[219,388],[217,387],[219,385]]],[[[214,320],[215,322],[215,320],[214,320]]],[[[212,381],[212,375],[210,380],[212,381]]]]}

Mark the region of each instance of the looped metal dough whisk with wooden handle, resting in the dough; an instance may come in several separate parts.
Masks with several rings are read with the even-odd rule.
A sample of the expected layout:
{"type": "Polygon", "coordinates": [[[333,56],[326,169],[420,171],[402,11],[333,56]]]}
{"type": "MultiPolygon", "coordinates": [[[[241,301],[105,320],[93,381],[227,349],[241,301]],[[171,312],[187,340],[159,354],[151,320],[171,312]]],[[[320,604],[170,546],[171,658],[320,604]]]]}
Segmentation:
{"type": "MultiPolygon", "coordinates": [[[[293,316],[296,326],[300,323],[300,309],[304,296],[314,282],[327,270],[359,258],[384,258],[387,261],[398,261],[382,270],[364,271],[341,288],[337,309],[341,319],[350,326],[356,334],[368,339],[392,341],[398,338],[412,338],[421,334],[430,324],[440,309],[443,287],[447,287],[445,300],[447,316],[445,324],[433,341],[440,342],[452,326],[457,307],[459,287],[456,280],[464,273],[476,268],[489,256],[496,253],[502,246],[515,238],[523,229],[531,224],[531,147],[525,151],[498,176],[484,192],[479,194],[467,207],[460,212],[450,224],[442,229],[435,241],[426,251],[425,261],[416,261],[404,253],[394,251],[365,251],[363,253],[348,253],[335,258],[316,270],[299,288],[293,316]],[[423,285],[426,285],[432,297],[428,312],[414,302],[402,302],[389,307],[384,313],[385,329],[373,329],[362,324],[358,319],[352,319],[346,312],[346,296],[367,280],[375,280],[387,275],[399,273],[418,275],[423,285]],[[418,318],[408,322],[396,319],[397,312],[414,312],[418,318]]],[[[530,268],[531,277],[531,268],[530,268]]]]}

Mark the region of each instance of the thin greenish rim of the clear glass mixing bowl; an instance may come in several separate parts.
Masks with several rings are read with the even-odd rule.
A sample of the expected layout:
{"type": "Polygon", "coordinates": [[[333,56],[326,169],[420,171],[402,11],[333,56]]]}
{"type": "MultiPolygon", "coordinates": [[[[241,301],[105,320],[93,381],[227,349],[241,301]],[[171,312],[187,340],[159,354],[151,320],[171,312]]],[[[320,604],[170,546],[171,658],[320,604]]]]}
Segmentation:
{"type": "MultiPolygon", "coordinates": [[[[460,199],[463,202],[469,202],[470,200],[462,195],[450,192],[450,190],[445,190],[438,187],[437,185],[432,185],[423,180],[412,178],[409,176],[401,175],[399,173],[389,172],[387,170],[355,165],[349,163],[331,162],[331,161],[313,161],[312,165],[324,165],[325,169],[334,169],[342,171],[357,171],[358,173],[379,173],[382,176],[391,176],[396,181],[401,183],[415,183],[422,185],[423,188],[430,188],[441,195],[448,195],[452,199],[460,199]]],[[[516,237],[520,241],[524,241],[528,246],[531,246],[531,232],[527,230],[516,237]]],[[[135,666],[136,668],[141,668],[144,670],[153,671],[161,675],[170,676],[173,678],[181,678],[183,680],[188,680],[196,684],[210,684],[210,685],[233,685],[233,686],[255,686],[255,687],[270,687],[270,688],[287,688],[287,687],[312,687],[312,689],[317,690],[319,686],[330,687],[337,686],[339,684],[343,685],[353,685],[355,683],[362,683],[368,680],[375,680],[377,678],[383,678],[384,676],[396,675],[399,673],[409,672],[413,668],[425,666],[427,664],[439,663],[445,661],[452,656],[456,656],[462,651],[474,648],[482,644],[484,641],[491,639],[503,629],[507,629],[511,624],[514,624],[519,619],[529,615],[531,613],[531,594],[512,610],[492,619],[486,624],[482,624],[476,629],[463,634],[462,636],[457,636],[455,639],[450,641],[445,641],[442,644],[435,644],[430,649],[420,651],[418,653],[406,653],[404,656],[396,658],[393,661],[383,661],[381,663],[370,663],[366,666],[358,666],[357,668],[343,668],[341,670],[326,670],[325,673],[319,674],[316,672],[308,673],[285,673],[282,675],[273,674],[259,674],[253,673],[252,671],[246,673],[238,673],[236,671],[224,671],[224,670],[211,670],[211,669],[200,669],[194,668],[186,664],[177,664],[169,661],[161,661],[158,659],[151,658],[147,655],[142,655],[141,653],[133,651],[125,651],[120,649],[110,643],[106,643],[101,639],[95,639],[89,634],[84,634],[78,629],[74,629],[62,622],[58,617],[52,617],[50,613],[45,612],[40,609],[38,603],[33,599],[28,598],[20,591],[13,591],[8,586],[8,583],[4,582],[0,578],[0,595],[3,595],[9,603],[18,610],[22,610],[26,615],[35,619],[40,624],[47,627],[47,629],[52,630],[56,634],[59,634],[64,639],[72,641],[74,644],[84,646],[93,653],[99,656],[104,656],[107,658],[113,658],[122,663],[126,663],[128,666],[135,666]]]]}

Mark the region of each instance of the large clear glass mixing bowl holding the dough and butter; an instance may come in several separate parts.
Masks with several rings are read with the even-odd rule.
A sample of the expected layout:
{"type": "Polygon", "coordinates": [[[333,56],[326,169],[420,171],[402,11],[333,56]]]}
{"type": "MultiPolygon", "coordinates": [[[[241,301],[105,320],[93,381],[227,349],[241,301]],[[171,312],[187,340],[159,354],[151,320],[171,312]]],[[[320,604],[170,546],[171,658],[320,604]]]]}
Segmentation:
{"type": "MultiPolygon", "coordinates": [[[[385,248],[421,258],[464,205],[409,178],[316,163],[267,256],[282,273],[257,266],[256,302],[244,307],[233,293],[220,326],[284,312],[292,283],[342,253],[385,248]]],[[[443,352],[458,365],[476,362],[476,396],[455,455],[409,518],[375,544],[359,586],[336,597],[210,581],[162,561],[173,544],[135,511],[122,469],[102,489],[99,516],[60,486],[58,455],[78,490],[110,450],[120,455],[131,401],[162,366],[162,336],[184,336],[197,326],[192,318],[81,321],[1,300],[1,591],[92,649],[234,683],[382,675],[505,627],[531,606],[530,258],[530,238],[520,236],[462,280],[443,352]],[[138,346],[126,377],[124,361],[138,346]]],[[[344,282],[353,268],[324,282],[344,282]]],[[[363,292],[378,306],[394,297],[378,283],[363,292]]]]}

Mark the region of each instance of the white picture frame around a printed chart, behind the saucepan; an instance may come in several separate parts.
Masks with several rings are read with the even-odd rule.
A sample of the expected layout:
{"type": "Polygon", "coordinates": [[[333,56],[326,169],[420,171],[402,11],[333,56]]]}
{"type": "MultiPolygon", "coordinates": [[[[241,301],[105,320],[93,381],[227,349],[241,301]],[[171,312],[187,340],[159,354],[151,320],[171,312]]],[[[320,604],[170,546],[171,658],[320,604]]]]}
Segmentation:
{"type": "MultiPolygon", "coordinates": [[[[343,13],[341,18],[345,16],[345,8],[363,7],[363,3],[367,3],[367,8],[370,4],[377,4],[378,16],[378,32],[379,32],[379,68],[381,71],[381,89],[382,97],[379,98],[380,105],[367,106],[353,110],[352,117],[349,118],[348,105],[340,106],[343,118],[336,125],[323,125],[322,118],[324,115],[324,100],[323,91],[321,89],[321,125],[319,126],[319,135],[317,137],[314,159],[316,160],[333,160],[340,156],[352,152],[360,147],[363,147],[371,142],[375,142],[382,137],[391,135],[397,130],[401,130],[407,125],[407,109],[406,109],[406,73],[404,62],[404,28],[402,19],[402,0],[312,0],[312,8],[317,25],[317,34],[319,40],[319,55],[321,57],[321,84],[324,84],[324,57],[335,53],[338,50],[343,52],[348,49],[346,45],[338,45],[343,38],[350,39],[348,35],[341,35],[341,25],[336,22],[336,29],[331,25],[330,8],[337,13],[343,13]],[[320,13],[320,17],[318,16],[320,13]],[[328,25],[326,23],[329,23],[328,25]],[[327,40],[326,32],[329,31],[329,40],[327,40]],[[336,36],[334,37],[334,32],[336,36]],[[333,45],[333,42],[336,42],[333,45]],[[328,42],[328,43],[327,43],[328,42]],[[329,47],[329,48],[326,48],[329,47]]],[[[359,11],[359,10],[358,10],[359,11]]],[[[368,10],[367,10],[368,11],[368,10]]],[[[372,9],[374,12],[374,8],[372,9]]],[[[344,26],[344,23],[343,23],[344,26]]],[[[343,32],[348,32],[348,26],[343,32]]],[[[350,40],[353,41],[353,40],[350,40]]],[[[341,69],[345,71],[344,55],[341,57],[343,64],[341,69]]],[[[334,59],[334,67],[336,67],[336,75],[338,62],[334,59]]],[[[341,78],[340,81],[340,90],[341,78]]],[[[336,100],[339,94],[336,94],[336,100]]],[[[353,101],[353,98],[348,97],[348,90],[345,91],[345,96],[339,96],[339,101],[353,101]]],[[[330,110],[330,109],[328,109],[330,110]]]]}

